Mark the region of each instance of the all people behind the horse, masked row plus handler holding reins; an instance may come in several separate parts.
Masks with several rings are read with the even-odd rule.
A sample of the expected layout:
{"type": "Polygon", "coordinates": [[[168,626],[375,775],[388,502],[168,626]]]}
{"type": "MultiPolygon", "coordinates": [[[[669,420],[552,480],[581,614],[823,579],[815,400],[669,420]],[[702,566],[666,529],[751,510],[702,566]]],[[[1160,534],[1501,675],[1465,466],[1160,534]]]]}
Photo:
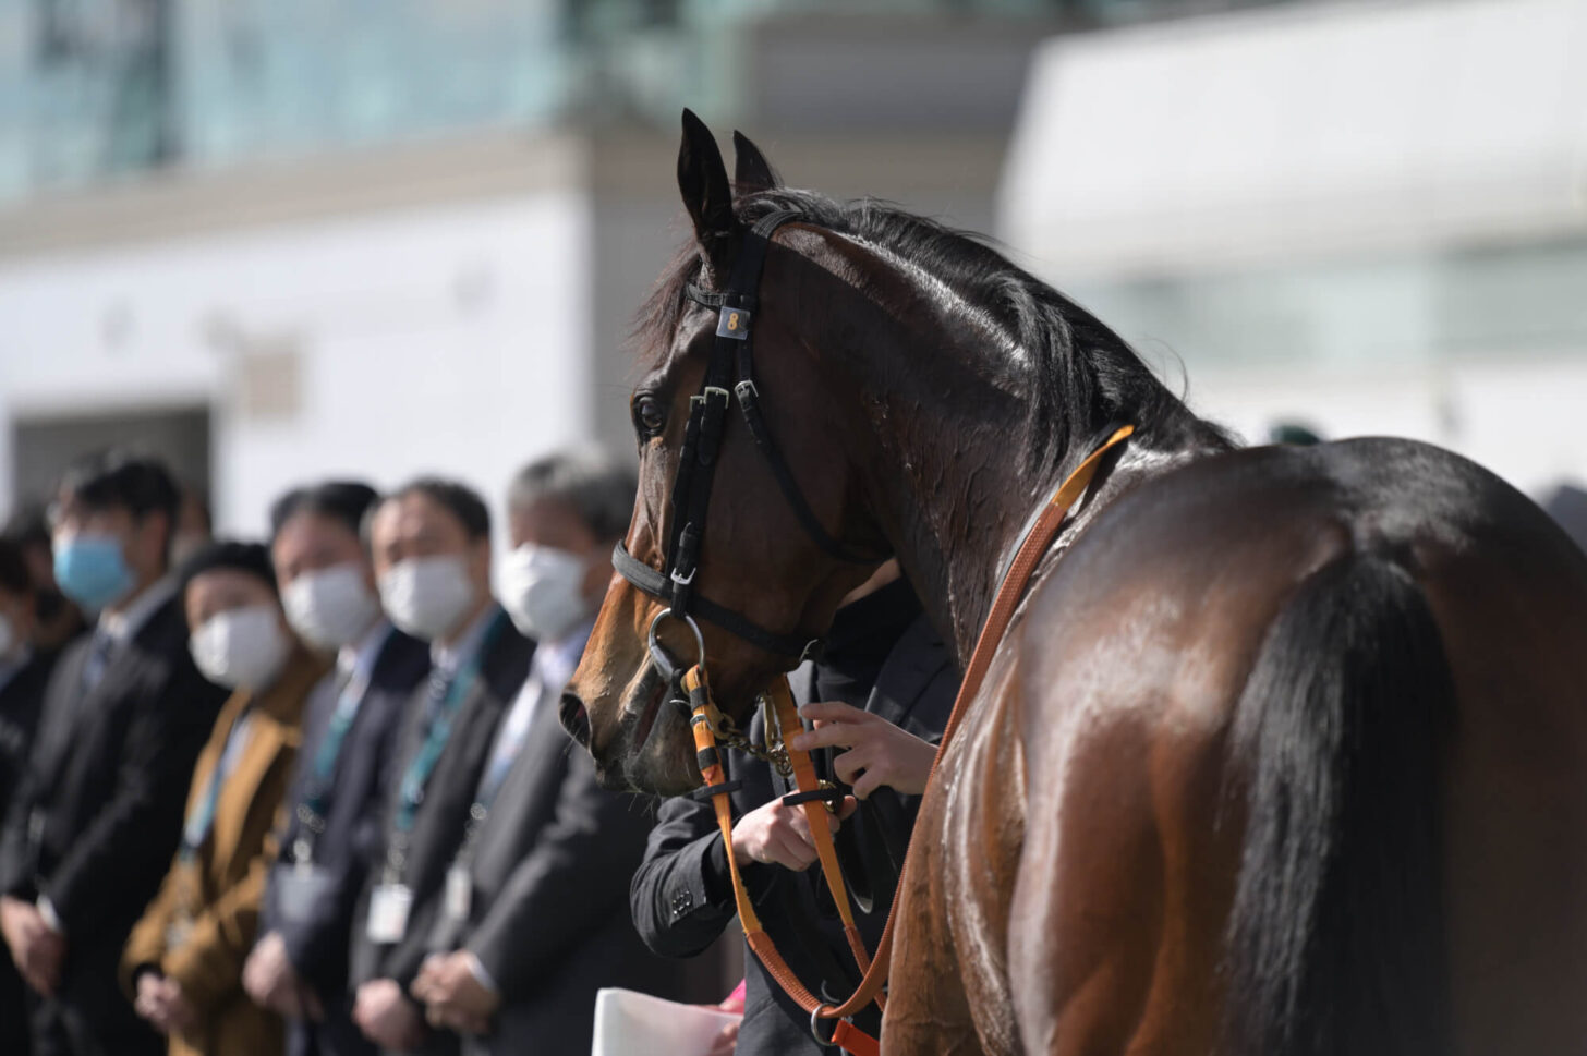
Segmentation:
{"type": "MultiPolygon", "coordinates": [[[[254,541],[159,460],[70,466],[0,538],[0,1051],[589,1051],[600,988],[681,996],[728,855],[790,961],[852,986],[784,777],[735,764],[725,842],[560,728],[635,490],[592,450],[524,466],[492,569],[457,480],[309,480],[254,541]]],[[[795,674],[873,943],[957,683],[895,563],[795,674]]],[[[822,1051],[752,958],[724,1007],[714,1051],[822,1051]]]]}

